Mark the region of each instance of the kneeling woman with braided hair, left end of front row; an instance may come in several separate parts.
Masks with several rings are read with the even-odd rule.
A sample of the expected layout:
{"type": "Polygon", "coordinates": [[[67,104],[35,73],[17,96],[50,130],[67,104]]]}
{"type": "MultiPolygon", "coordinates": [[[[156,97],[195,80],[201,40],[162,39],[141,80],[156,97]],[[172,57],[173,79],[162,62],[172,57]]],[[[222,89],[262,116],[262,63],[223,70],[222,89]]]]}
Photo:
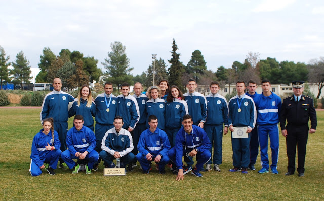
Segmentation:
{"type": "Polygon", "coordinates": [[[55,175],[54,169],[61,155],[61,142],[53,124],[53,118],[44,119],[43,129],[32,140],[29,168],[31,176],[41,175],[44,168],[50,175],[55,175]]]}

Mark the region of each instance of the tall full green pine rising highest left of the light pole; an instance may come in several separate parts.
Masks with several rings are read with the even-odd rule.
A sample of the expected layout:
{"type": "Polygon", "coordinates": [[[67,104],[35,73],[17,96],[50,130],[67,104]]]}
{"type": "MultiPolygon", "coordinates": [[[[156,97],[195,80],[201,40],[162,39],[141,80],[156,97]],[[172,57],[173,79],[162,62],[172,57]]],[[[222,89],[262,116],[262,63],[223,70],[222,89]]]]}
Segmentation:
{"type": "Polygon", "coordinates": [[[108,52],[108,57],[105,58],[105,62],[102,62],[102,64],[107,69],[106,81],[116,84],[119,91],[123,82],[132,84],[133,76],[130,75],[130,72],[133,68],[129,67],[130,60],[126,55],[126,46],[119,41],[115,41],[110,44],[110,47],[112,51],[108,52]]]}

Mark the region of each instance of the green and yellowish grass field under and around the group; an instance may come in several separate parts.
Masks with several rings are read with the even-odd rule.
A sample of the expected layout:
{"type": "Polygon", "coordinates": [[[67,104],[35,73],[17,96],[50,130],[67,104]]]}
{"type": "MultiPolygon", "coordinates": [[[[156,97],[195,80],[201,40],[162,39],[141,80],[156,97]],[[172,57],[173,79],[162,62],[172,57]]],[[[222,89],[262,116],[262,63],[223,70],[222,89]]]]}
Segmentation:
{"type": "MultiPolygon", "coordinates": [[[[86,175],[70,170],[46,171],[38,177],[28,172],[33,136],[42,128],[41,109],[0,108],[0,178],[1,200],[323,200],[324,199],[324,111],[317,112],[318,127],[307,144],[305,177],[285,176],[287,156],[285,138],[280,134],[278,175],[271,173],[231,173],[230,135],[223,138],[222,172],[204,172],[202,178],[185,175],[175,181],[157,170],[144,175],[137,168],[126,176],[103,176],[102,162],[98,171],[86,175]]],[[[72,121],[69,121],[69,127],[72,121]]],[[[270,151],[271,152],[271,151],[270,151]]],[[[269,154],[271,155],[271,153],[269,154]]],[[[271,162],[271,161],[270,161],[271,162]]],[[[139,164],[139,163],[138,163],[139,164]]],[[[261,168],[258,156],[257,170],[261,168]]]]}

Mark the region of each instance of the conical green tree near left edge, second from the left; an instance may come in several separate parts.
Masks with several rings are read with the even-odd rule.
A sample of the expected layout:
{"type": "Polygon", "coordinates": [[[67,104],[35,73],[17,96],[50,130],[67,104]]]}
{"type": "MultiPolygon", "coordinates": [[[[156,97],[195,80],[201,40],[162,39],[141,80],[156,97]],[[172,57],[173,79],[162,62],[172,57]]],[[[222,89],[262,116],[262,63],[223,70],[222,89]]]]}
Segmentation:
{"type": "Polygon", "coordinates": [[[20,84],[22,87],[22,82],[30,83],[31,79],[29,61],[24,55],[23,51],[20,51],[16,56],[16,61],[12,63],[13,69],[10,71],[10,74],[14,76],[13,83],[20,84]]]}

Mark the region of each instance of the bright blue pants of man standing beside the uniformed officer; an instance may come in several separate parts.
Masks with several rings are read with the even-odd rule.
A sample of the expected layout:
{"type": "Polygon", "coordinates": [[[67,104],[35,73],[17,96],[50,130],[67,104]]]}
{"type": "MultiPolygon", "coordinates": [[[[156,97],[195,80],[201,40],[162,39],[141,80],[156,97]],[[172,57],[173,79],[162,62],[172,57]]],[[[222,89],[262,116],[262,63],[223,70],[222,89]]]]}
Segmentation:
{"type": "Polygon", "coordinates": [[[279,156],[279,128],[278,124],[258,125],[258,136],[260,143],[260,155],[262,168],[269,169],[268,138],[271,148],[271,168],[276,168],[279,156]]]}

